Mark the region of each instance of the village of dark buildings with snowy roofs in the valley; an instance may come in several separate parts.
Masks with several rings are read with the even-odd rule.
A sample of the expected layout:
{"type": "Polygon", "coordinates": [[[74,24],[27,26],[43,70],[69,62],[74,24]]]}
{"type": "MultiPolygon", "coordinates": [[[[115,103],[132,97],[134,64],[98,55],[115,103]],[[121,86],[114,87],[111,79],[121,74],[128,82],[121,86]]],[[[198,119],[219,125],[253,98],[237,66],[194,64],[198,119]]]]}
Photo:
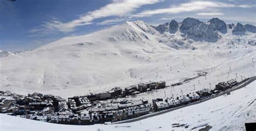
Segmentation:
{"type": "Polygon", "coordinates": [[[37,92],[22,96],[9,91],[0,91],[0,113],[66,125],[108,123],[210,99],[220,92],[228,93],[227,90],[235,89],[235,86],[244,83],[247,79],[241,82],[231,79],[227,82],[219,82],[213,90],[202,89],[179,96],[154,98],[152,101],[126,100],[125,97],[168,88],[169,86],[164,81],[131,85],[124,90],[114,87],[110,91],[74,96],[68,100],[37,92]],[[106,102],[106,100],[116,98],[123,98],[123,100],[106,102]]]}

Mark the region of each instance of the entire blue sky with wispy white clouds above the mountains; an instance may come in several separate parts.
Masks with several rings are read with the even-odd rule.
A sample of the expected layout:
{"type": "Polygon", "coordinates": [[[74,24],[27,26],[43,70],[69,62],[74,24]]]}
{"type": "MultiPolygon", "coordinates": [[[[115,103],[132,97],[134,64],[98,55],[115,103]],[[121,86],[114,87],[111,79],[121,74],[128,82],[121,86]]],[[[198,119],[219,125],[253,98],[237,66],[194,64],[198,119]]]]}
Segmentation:
{"type": "Polygon", "coordinates": [[[255,0],[0,0],[0,49],[34,49],[126,20],[158,25],[171,19],[218,17],[226,23],[255,25],[255,12],[255,0]]]}

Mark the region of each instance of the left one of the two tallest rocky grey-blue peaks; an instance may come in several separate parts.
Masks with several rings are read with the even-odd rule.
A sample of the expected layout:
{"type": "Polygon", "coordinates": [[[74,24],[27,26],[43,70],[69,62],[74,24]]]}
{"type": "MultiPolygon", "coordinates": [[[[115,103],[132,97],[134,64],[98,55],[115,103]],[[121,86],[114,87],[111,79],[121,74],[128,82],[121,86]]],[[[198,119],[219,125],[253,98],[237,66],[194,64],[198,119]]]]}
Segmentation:
{"type": "Polygon", "coordinates": [[[190,29],[190,27],[199,24],[200,21],[198,19],[187,17],[184,19],[180,26],[180,32],[187,34],[187,31],[190,29]]]}

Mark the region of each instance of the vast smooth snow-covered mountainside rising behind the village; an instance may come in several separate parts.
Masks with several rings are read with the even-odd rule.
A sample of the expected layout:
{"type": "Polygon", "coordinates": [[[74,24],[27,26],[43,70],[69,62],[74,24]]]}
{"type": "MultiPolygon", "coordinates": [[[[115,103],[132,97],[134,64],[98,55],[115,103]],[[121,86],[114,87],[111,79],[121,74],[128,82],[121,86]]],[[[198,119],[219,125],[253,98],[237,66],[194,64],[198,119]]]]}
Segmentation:
{"type": "MultiPolygon", "coordinates": [[[[191,81],[198,89],[234,78],[235,74],[239,78],[255,75],[254,33],[234,35],[233,28],[228,28],[225,34],[218,32],[215,42],[195,41],[180,32],[182,24],[171,23],[171,28],[161,34],[143,21],[126,22],[1,57],[0,90],[69,97],[140,82],[164,80],[171,84],[202,70],[208,72],[208,79],[191,81]]],[[[188,31],[187,27],[184,30],[188,31]]],[[[220,29],[216,26],[214,30],[220,29]]]]}

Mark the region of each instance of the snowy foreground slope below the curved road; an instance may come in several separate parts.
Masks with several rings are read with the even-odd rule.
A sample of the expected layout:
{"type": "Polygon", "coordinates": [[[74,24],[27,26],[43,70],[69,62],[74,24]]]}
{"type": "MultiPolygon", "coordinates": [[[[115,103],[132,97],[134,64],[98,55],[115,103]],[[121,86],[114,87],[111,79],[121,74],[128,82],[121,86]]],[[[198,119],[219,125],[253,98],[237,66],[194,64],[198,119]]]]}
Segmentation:
{"type": "Polygon", "coordinates": [[[0,114],[0,130],[245,130],[245,122],[256,121],[256,81],[245,88],[203,103],[144,120],[114,125],[72,126],[0,114]],[[173,125],[186,125],[174,127],[173,125]]]}

